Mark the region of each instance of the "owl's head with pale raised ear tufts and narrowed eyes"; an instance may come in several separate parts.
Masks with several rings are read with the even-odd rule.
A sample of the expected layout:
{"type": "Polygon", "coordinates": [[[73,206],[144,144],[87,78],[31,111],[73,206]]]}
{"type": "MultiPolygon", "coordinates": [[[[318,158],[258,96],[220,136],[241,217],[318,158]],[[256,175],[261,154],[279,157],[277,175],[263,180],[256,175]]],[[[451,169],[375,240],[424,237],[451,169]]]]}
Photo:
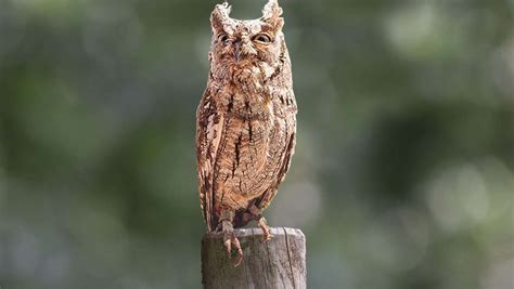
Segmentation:
{"type": "Polygon", "coordinates": [[[286,57],[282,32],[284,19],[279,3],[269,0],[262,16],[250,21],[231,18],[230,10],[224,2],[216,5],[210,15],[213,42],[209,57],[213,70],[215,74],[227,74],[228,70],[249,68],[257,71],[255,68],[259,68],[271,76],[286,57]]]}

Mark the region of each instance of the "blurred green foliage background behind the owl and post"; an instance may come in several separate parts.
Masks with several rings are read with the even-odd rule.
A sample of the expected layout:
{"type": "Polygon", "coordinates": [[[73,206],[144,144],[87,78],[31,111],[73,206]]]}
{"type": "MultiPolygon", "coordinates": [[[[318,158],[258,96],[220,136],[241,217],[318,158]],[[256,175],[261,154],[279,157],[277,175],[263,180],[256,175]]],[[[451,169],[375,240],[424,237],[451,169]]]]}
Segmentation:
{"type": "MultiPolygon", "coordinates": [[[[514,2],[281,2],[309,287],[514,288],[514,2]]],[[[215,3],[0,2],[2,288],[200,288],[215,3]]]]}

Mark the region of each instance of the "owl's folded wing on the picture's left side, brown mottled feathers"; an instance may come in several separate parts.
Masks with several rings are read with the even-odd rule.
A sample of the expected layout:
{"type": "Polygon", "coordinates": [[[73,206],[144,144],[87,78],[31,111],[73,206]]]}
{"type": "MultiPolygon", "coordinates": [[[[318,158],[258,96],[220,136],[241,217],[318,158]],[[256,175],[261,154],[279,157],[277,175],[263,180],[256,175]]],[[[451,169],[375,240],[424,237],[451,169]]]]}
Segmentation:
{"type": "Polygon", "coordinates": [[[208,232],[214,231],[214,169],[223,131],[223,116],[207,90],[196,109],[196,160],[200,203],[208,232]]]}

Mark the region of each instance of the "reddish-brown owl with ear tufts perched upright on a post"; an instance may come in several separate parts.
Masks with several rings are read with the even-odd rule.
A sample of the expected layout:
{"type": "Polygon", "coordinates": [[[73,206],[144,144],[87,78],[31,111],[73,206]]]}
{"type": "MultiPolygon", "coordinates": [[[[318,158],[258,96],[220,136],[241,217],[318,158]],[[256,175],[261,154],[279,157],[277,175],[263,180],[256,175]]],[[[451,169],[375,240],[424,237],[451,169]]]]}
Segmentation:
{"type": "Polygon", "coordinates": [[[277,0],[257,19],[215,6],[207,88],[196,110],[200,200],[208,233],[220,233],[229,259],[243,259],[234,228],[257,221],[277,195],[295,149],[296,101],[277,0]]]}

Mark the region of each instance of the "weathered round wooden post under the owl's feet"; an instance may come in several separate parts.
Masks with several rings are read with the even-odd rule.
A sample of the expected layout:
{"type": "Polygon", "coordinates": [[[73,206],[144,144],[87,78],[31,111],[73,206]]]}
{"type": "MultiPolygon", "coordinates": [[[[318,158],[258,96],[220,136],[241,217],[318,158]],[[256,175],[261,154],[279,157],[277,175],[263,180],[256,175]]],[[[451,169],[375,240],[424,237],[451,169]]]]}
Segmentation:
{"type": "Polygon", "coordinates": [[[273,238],[262,241],[260,228],[235,229],[243,249],[243,263],[228,259],[221,234],[202,240],[204,288],[307,288],[305,235],[297,228],[271,228],[273,238]]]}

